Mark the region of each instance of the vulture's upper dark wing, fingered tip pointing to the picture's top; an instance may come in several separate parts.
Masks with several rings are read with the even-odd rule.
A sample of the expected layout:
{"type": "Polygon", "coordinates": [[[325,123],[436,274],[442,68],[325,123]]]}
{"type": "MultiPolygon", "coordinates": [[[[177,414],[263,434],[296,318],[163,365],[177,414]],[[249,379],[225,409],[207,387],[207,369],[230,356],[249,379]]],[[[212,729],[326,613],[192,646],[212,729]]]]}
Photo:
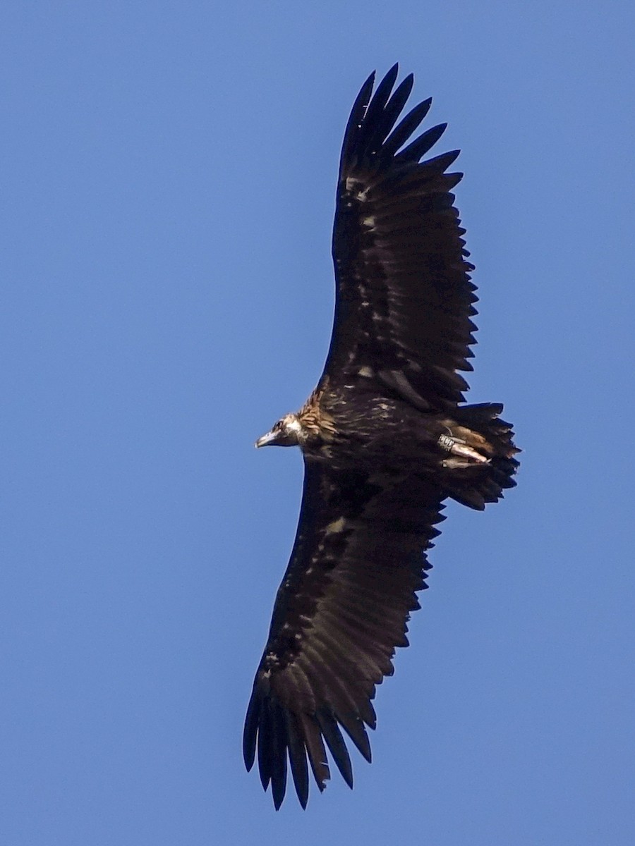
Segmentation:
{"type": "Polygon", "coordinates": [[[445,173],[458,151],[419,163],[446,124],[399,151],[431,101],[394,129],[411,88],[407,77],[389,96],[395,78],[396,66],[370,99],[369,77],[345,131],[333,233],[337,305],[324,371],[345,381],[372,366],[378,382],[440,410],[461,402],[467,382],[456,371],[472,369],[477,297],[450,193],[461,173],[445,173]]]}

